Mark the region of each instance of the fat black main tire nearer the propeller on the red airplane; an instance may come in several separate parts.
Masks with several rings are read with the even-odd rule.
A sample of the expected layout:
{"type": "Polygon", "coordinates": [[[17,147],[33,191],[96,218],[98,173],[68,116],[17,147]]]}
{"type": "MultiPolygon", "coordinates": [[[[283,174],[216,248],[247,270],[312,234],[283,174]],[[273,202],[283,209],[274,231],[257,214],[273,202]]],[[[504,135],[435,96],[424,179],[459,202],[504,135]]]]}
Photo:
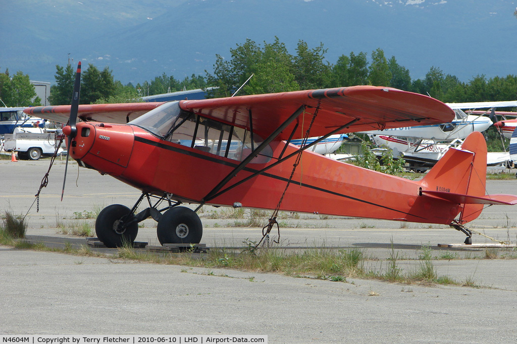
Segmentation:
{"type": "Polygon", "coordinates": [[[134,218],[131,209],[121,204],[105,207],[95,221],[95,233],[105,247],[120,247],[125,242],[133,245],[138,234],[138,223],[133,222],[124,228],[122,225],[134,218]]]}

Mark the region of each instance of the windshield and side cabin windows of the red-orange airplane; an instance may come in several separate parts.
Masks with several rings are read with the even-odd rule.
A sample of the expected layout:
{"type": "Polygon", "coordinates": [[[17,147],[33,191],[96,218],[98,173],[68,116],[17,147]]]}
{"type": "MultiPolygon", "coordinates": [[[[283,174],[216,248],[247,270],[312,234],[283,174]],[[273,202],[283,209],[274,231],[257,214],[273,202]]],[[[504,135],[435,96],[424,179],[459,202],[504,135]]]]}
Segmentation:
{"type": "MultiPolygon", "coordinates": [[[[160,105],[129,124],[144,128],[163,140],[234,160],[243,160],[263,142],[249,130],[181,110],[179,102],[160,105]]],[[[272,150],[267,146],[251,162],[265,163],[271,157],[272,150]]]]}

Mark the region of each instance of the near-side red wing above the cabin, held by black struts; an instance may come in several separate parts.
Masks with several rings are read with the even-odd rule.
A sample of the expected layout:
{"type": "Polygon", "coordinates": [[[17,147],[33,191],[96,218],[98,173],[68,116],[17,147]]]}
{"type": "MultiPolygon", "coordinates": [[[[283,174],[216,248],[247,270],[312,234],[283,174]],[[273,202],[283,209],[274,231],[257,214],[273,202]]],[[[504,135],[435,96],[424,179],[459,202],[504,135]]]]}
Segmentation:
{"type": "MultiPolygon", "coordinates": [[[[305,135],[316,106],[320,110],[310,136],[323,136],[331,130],[358,119],[342,133],[361,132],[403,126],[450,122],[454,111],[431,97],[394,88],[354,86],[325,90],[295,91],[229,98],[180,101],[180,107],[201,116],[249,128],[249,111],[253,131],[267,137],[300,106],[307,113],[298,118],[299,129],[294,138],[305,135]]],[[[294,124],[288,126],[280,139],[287,139],[294,124]]]]}

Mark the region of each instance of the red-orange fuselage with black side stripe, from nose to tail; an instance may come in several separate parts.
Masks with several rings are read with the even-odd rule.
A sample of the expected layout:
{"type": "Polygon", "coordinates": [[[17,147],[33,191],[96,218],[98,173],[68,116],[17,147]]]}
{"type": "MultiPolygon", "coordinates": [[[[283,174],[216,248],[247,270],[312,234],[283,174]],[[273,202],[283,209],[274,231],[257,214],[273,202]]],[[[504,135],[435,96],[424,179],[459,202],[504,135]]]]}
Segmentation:
{"type": "MultiPolygon", "coordinates": [[[[164,141],[134,125],[78,123],[70,155],[142,191],[202,203],[239,161],[164,141]]],[[[231,186],[277,161],[284,141],[270,144],[273,158],[249,163],[231,186]]],[[[289,145],[284,156],[296,151],[289,145]]],[[[292,157],[206,202],[274,209],[293,170],[292,157]]],[[[450,224],[458,204],[420,195],[422,182],[390,176],[304,151],[281,210],[364,218],[450,224]]]]}

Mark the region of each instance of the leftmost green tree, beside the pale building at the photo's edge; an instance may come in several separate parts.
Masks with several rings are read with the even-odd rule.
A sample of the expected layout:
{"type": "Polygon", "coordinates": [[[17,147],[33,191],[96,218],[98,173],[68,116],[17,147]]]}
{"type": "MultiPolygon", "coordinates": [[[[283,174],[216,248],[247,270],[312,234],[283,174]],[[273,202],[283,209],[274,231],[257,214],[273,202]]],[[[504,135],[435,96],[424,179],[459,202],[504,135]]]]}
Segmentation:
{"type": "Polygon", "coordinates": [[[0,77],[0,99],[6,106],[41,105],[41,98],[37,96],[28,74],[18,71],[12,78],[9,78],[8,71],[3,74],[4,76],[0,77]]]}

